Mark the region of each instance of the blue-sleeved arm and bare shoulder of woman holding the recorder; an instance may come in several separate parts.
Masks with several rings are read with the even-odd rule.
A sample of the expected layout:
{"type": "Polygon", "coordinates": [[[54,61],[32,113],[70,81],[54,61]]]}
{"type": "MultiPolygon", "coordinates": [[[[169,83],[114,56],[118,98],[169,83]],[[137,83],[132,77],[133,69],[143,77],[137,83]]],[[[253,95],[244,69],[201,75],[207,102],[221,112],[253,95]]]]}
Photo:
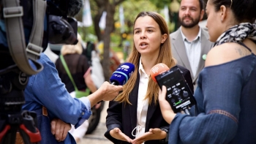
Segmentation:
{"type": "MultiPolygon", "coordinates": [[[[206,67],[200,73],[197,86],[200,92],[195,98],[203,112],[196,117],[177,113],[174,118],[165,118],[173,112],[170,107],[165,107],[165,113],[162,111],[170,123],[169,143],[229,143],[236,136],[243,77],[241,72],[236,72],[239,71],[236,64],[223,64],[232,61],[232,52],[227,51],[208,53],[206,67]],[[222,63],[217,63],[216,59],[222,63]]],[[[163,102],[159,102],[160,105],[164,105],[163,102]]]]}

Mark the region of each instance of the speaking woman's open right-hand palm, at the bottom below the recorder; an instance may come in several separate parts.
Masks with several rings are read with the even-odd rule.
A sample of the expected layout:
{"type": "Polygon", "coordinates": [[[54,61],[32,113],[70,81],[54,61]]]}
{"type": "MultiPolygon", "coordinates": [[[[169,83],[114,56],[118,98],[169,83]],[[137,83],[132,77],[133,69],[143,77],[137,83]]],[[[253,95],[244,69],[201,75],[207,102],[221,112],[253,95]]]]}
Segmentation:
{"type": "Polygon", "coordinates": [[[166,137],[166,132],[162,131],[161,129],[149,129],[149,132],[146,132],[140,137],[135,138],[132,140],[132,144],[140,144],[144,143],[147,140],[162,140],[166,137]]]}

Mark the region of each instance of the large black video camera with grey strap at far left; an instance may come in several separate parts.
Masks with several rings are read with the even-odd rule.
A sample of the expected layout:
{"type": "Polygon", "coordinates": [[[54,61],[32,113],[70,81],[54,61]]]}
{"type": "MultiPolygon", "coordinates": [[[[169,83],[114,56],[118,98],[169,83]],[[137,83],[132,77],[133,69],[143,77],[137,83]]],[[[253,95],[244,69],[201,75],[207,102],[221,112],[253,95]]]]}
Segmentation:
{"type": "Polygon", "coordinates": [[[0,0],[0,143],[12,141],[4,138],[10,133],[7,126],[17,130],[29,117],[21,114],[23,90],[29,76],[43,69],[37,62],[40,53],[48,43],[77,44],[78,23],[73,17],[81,7],[83,0],[0,0]]]}

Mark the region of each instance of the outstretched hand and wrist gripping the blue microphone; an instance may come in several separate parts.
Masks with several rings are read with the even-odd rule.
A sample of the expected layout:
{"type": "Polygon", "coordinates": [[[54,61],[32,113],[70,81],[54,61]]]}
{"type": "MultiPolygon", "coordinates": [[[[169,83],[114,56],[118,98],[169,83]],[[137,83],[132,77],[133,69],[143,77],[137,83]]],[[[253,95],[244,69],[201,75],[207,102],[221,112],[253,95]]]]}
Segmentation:
{"type": "Polygon", "coordinates": [[[114,86],[107,81],[105,81],[100,88],[95,91],[93,94],[90,94],[88,99],[91,102],[91,107],[97,104],[102,100],[110,101],[113,100],[118,94],[119,91],[123,90],[123,86],[114,86]]]}

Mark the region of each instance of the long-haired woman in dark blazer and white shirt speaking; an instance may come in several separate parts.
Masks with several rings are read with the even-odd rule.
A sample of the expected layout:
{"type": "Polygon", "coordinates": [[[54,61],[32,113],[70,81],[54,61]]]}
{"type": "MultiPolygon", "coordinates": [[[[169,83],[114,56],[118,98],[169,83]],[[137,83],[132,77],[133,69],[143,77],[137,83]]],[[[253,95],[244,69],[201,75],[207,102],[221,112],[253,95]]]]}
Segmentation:
{"type": "MultiPolygon", "coordinates": [[[[150,76],[154,65],[176,65],[170,51],[170,36],[165,19],[156,12],[140,12],[133,29],[134,45],[128,62],[135,72],[124,85],[124,91],[111,101],[108,108],[105,137],[113,143],[132,143],[140,138],[145,144],[165,142],[169,124],[162,118],[158,103],[158,88],[150,76]],[[157,128],[154,134],[151,128],[157,128]]],[[[178,66],[179,67],[179,66],[178,66]]],[[[188,69],[179,67],[193,89],[188,69]]]]}

